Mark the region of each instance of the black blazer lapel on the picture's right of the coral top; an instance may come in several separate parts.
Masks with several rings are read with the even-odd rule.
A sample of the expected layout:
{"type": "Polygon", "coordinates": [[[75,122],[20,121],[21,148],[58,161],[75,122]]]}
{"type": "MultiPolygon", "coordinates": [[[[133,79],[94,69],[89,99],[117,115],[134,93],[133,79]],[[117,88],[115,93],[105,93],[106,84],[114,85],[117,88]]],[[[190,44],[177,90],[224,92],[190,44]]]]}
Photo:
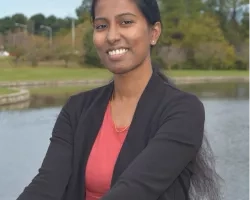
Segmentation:
{"type": "Polygon", "coordinates": [[[147,145],[149,125],[163,95],[164,81],[153,73],[137,104],[127,137],[116,161],[111,186],[147,145]]]}

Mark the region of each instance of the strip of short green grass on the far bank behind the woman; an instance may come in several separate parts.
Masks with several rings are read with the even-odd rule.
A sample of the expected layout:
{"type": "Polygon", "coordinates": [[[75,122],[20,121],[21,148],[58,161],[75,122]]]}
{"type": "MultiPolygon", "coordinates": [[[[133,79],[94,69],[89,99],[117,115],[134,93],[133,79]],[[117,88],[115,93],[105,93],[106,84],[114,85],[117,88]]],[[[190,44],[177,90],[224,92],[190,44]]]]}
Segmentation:
{"type": "MultiPolygon", "coordinates": [[[[171,77],[250,76],[250,71],[173,70],[165,71],[165,73],[171,77]]],[[[0,66],[0,81],[108,79],[110,77],[111,74],[106,69],[49,66],[38,68],[6,68],[0,66]]]]}

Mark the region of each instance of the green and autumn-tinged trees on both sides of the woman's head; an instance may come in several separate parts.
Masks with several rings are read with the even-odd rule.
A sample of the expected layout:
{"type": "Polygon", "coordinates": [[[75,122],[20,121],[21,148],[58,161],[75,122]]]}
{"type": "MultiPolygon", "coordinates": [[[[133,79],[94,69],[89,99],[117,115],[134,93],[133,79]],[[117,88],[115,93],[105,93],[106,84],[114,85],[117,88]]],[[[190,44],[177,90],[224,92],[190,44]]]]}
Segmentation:
{"type": "MultiPolygon", "coordinates": [[[[249,2],[250,0],[159,0],[163,30],[158,45],[152,51],[152,61],[165,68],[250,69],[250,13],[244,13],[241,22],[235,14],[236,11],[239,12],[239,6],[249,2]],[[163,47],[169,49],[177,47],[182,55],[178,55],[178,51],[174,51],[174,55],[173,52],[172,54],[167,52],[168,55],[161,54],[163,47]],[[185,54],[184,59],[182,59],[183,54],[185,54]]],[[[81,48],[75,46],[75,50],[80,53],[73,52],[71,46],[72,19],[58,18],[54,15],[46,17],[42,13],[34,14],[30,18],[22,13],[1,18],[0,42],[13,41],[15,36],[11,33],[20,33],[24,30],[24,27],[17,27],[15,23],[27,25],[28,33],[46,38],[47,41],[49,32],[40,28],[40,25],[46,25],[53,30],[53,41],[57,37],[67,36],[67,42],[66,39],[62,39],[53,44],[52,48],[45,47],[44,42],[40,46],[25,43],[23,45],[26,46],[25,50],[21,45],[16,45],[18,43],[16,37],[16,47],[10,49],[16,61],[23,57],[29,58],[32,62],[34,60],[34,63],[40,60],[61,59],[65,61],[66,67],[70,61],[79,61],[85,66],[87,64],[103,67],[93,45],[92,28],[86,25],[91,21],[90,6],[91,0],[82,0],[75,10],[76,26],[81,23],[82,29],[87,30],[76,34],[78,41],[83,39],[81,48]],[[1,35],[4,35],[3,39],[1,35]],[[27,48],[32,50],[27,53],[27,48]]],[[[21,44],[24,39],[19,37],[19,41],[21,44]]]]}

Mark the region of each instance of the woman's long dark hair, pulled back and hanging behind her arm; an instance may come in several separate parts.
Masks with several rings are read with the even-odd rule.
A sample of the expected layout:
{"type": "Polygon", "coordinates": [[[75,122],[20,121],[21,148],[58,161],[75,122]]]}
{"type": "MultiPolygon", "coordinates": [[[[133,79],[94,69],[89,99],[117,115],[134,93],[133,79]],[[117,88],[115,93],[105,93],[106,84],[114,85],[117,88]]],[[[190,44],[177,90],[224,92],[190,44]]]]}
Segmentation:
{"type": "MultiPolygon", "coordinates": [[[[98,0],[93,0],[91,5],[91,18],[95,18],[95,6],[98,0]]],[[[156,0],[134,0],[139,10],[144,15],[149,26],[161,22],[159,6],[156,0]]],[[[164,82],[174,86],[158,64],[152,64],[153,70],[164,82]]],[[[216,172],[215,157],[212,148],[204,133],[202,146],[196,156],[194,174],[191,177],[189,199],[191,200],[219,200],[221,199],[221,178],[216,172]]]]}

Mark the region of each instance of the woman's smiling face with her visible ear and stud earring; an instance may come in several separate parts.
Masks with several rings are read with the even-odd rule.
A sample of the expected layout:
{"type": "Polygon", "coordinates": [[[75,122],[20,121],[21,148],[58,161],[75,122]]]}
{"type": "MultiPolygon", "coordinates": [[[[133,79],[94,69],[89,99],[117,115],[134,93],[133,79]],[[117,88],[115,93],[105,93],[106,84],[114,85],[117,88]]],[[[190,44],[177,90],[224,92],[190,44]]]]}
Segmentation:
{"type": "Polygon", "coordinates": [[[160,35],[160,25],[148,26],[133,0],[98,0],[93,25],[97,53],[114,74],[141,66],[160,35]]]}

